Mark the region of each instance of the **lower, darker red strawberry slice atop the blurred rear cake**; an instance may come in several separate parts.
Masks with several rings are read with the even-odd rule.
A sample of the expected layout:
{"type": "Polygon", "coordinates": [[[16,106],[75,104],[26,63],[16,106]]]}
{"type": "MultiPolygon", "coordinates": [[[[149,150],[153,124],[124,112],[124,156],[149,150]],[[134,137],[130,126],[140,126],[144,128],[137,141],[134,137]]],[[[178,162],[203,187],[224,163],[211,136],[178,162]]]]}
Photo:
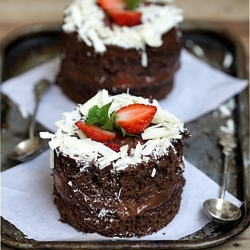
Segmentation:
{"type": "Polygon", "coordinates": [[[141,12],[124,10],[124,11],[110,11],[112,20],[119,26],[132,27],[141,24],[141,12]]]}

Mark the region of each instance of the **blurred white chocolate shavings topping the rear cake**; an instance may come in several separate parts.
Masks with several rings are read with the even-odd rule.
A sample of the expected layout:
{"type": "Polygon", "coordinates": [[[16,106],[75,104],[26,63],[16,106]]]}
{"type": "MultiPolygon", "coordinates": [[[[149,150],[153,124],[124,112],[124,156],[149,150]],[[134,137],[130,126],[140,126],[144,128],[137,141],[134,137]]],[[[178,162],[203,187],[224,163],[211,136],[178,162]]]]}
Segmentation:
{"type": "Polygon", "coordinates": [[[93,46],[97,53],[104,53],[107,45],[141,50],[141,62],[146,67],[146,45],[160,47],[162,36],[183,21],[182,10],[175,7],[173,1],[147,2],[150,4],[136,8],[141,13],[141,24],[127,27],[106,25],[105,11],[97,1],[75,0],[64,11],[62,29],[66,33],[77,32],[79,40],[93,46]]]}

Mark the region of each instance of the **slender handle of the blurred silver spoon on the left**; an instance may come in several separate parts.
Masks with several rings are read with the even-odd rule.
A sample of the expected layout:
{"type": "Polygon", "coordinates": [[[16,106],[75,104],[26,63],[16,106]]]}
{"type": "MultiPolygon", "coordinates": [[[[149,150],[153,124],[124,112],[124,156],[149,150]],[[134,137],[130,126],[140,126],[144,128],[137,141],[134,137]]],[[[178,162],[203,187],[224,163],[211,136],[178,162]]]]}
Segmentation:
{"type": "Polygon", "coordinates": [[[35,117],[38,110],[39,102],[42,99],[43,94],[48,90],[49,86],[50,82],[45,79],[41,80],[35,85],[34,92],[35,92],[36,104],[33,111],[33,115],[30,118],[30,125],[29,125],[30,138],[34,137],[35,117]]]}

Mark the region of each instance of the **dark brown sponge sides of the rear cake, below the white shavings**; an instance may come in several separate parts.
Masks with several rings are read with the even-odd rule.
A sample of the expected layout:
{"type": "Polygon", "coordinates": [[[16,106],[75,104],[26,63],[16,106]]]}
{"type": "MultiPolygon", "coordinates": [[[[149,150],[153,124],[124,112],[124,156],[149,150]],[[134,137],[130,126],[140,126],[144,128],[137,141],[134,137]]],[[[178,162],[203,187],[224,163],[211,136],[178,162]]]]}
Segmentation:
{"type": "Polygon", "coordinates": [[[141,50],[109,45],[100,54],[79,40],[76,32],[62,32],[62,64],[56,82],[77,103],[100,89],[111,94],[129,89],[132,95],[162,99],[172,90],[181,50],[176,28],[162,40],[160,47],[146,46],[148,65],[143,67],[141,50]]]}

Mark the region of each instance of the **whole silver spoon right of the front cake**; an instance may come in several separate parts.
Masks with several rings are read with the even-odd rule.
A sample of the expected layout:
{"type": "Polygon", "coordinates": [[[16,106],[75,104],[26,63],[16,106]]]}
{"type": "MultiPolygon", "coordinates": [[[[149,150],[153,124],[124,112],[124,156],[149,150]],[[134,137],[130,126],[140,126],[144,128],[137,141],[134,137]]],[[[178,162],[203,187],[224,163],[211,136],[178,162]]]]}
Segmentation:
{"type": "Polygon", "coordinates": [[[236,147],[234,137],[230,134],[223,134],[219,143],[223,147],[224,154],[224,171],[220,198],[206,200],[203,203],[203,209],[210,219],[223,225],[238,220],[241,217],[241,210],[235,204],[224,200],[227,185],[228,158],[232,149],[236,147]]]}

